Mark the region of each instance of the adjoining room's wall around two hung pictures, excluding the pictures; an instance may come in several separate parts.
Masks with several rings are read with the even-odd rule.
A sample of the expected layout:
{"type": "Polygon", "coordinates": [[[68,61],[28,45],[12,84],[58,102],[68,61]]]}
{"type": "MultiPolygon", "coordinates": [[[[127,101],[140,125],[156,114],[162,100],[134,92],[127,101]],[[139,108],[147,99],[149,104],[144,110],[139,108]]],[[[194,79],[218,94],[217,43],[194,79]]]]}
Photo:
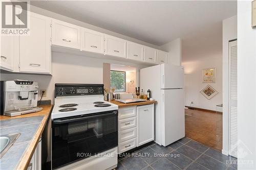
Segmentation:
{"type": "Polygon", "coordinates": [[[185,106],[216,110],[216,105],[222,103],[222,56],[183,62],[182,66],[185,69],[185,106]],[[202,83],[204,68],[216,68],[216,83],[202,83]],[[219,92],[210,100],[200,93],[208,84],[219,92]],[[190,104],[191,102],[193,104],[190,104]]]}

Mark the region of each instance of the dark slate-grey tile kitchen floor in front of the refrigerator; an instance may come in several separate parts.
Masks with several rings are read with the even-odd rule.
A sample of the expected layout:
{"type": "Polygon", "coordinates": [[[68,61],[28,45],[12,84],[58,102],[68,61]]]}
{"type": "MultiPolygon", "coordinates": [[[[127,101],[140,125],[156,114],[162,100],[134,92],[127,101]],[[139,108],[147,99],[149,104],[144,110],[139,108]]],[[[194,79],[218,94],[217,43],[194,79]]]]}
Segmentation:
{"type": "Polygon", "coordinates": [[[182,138],[167,147],[156,143],[149,145],[129,157],[118,160],[116,169],[237,169],[237,159],[223,155],[189,138],[182,138]],[[232,161],[230,161],[232,160],[232,161]],[[233,161],[234,160],[234,161],[233,161]]]}

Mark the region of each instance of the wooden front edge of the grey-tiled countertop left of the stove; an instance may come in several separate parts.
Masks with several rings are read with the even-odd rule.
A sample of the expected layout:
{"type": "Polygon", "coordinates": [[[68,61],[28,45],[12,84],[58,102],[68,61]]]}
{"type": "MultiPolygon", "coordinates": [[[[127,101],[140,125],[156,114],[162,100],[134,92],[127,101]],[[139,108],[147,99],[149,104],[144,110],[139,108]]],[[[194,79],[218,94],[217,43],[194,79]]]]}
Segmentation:
{"type": "MultiPolygon", "coordinates": [[[[29,147],[27,148],[26,152],[24,153],[24,155],[22,156],[22,159],[20,159],[18,165],[16,166],[15,169],[18,170],[27,170],[29,163],[31,161],[31,158],[35,152],[37,143],[40,139],[40,136],[42,135],[42,132],[44,131],[45,127],[46,127],[46,123],[48,120],[48,117],[50,115],[50,113],[52,112],[53,109],[53,105],[51,105],[51,109],[49,110],[48,114],[45,114],[44,118],[42,119],[33,139],[31,139],[31,142],[29,144],[29,147]]],[[[36,116],[36,115],[33,115],[36,116]]]]}

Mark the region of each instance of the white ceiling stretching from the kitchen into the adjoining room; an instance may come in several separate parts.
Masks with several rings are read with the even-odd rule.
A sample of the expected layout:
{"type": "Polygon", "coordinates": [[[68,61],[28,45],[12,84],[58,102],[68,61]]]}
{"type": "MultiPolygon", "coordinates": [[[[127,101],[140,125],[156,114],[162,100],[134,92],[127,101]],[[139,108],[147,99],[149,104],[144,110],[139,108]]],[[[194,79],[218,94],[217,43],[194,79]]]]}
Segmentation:
{"type": "Polygon", "coordinates": [[[222,51],[222,20],[237,14],[236,1],[31,1],[31,5],[159,46],[181,37],[183,61],[222,51]]]}

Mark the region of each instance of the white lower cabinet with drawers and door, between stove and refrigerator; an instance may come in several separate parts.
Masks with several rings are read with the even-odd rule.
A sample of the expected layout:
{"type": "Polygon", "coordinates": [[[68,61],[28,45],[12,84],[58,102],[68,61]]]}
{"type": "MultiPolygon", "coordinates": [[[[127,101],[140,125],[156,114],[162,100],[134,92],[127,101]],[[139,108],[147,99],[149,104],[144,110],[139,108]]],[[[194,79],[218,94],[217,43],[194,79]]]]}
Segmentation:
{"type": "Polygon", "coordinates": [[[118,152],[153,141],[154,120],[154,104],[118,109],[118,152]]]}

